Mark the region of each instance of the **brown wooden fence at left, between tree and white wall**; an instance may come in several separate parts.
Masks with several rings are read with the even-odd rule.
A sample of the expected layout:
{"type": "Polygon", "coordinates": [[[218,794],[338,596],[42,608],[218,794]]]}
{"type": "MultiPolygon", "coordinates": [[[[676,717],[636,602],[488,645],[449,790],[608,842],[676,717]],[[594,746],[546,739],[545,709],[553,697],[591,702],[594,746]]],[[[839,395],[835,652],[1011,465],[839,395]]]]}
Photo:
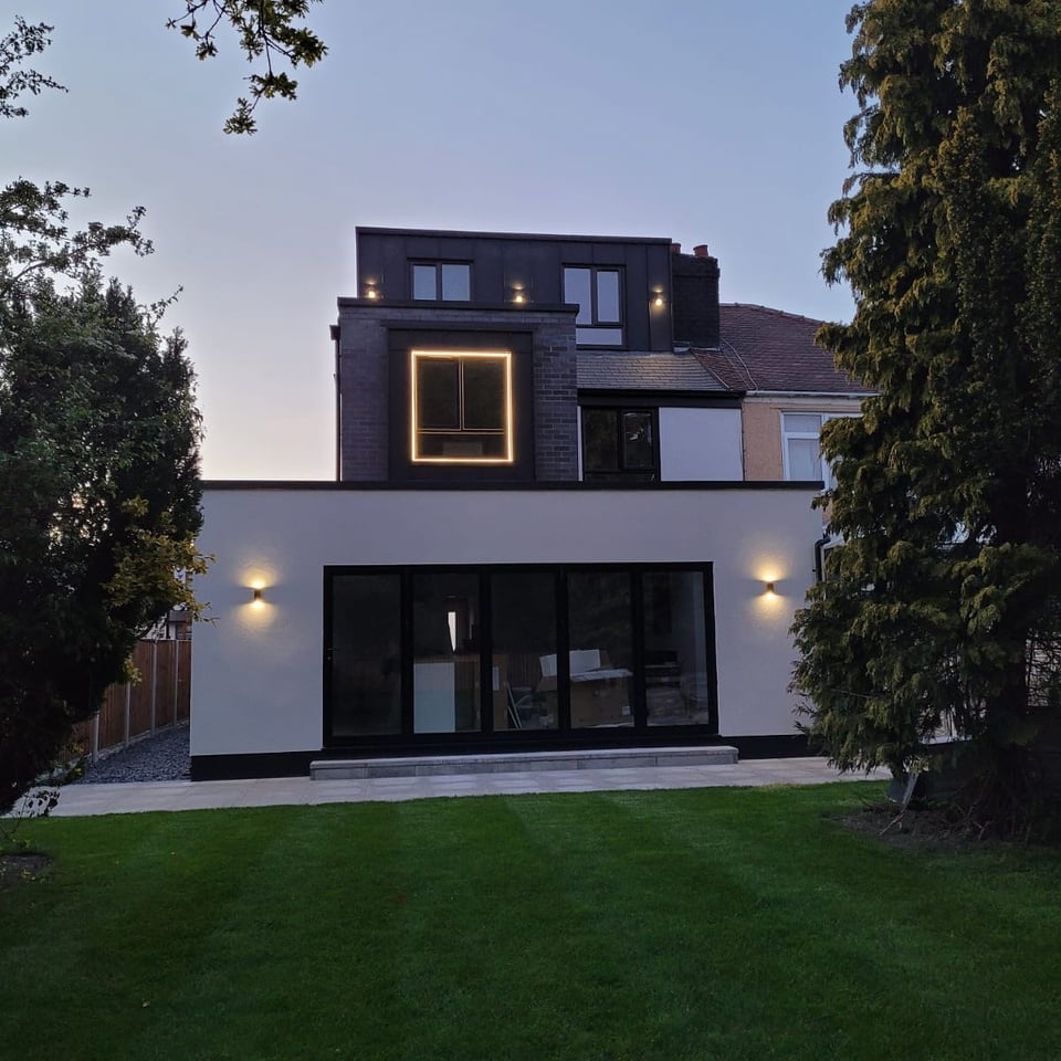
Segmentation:
{"type": "Polygon", "coordinates": [[[124,748],[191,715],[191,641],[140,641],[133,650],[139,682],[112,685],[103,706],[74,731],[84,754],[124,748]]]}

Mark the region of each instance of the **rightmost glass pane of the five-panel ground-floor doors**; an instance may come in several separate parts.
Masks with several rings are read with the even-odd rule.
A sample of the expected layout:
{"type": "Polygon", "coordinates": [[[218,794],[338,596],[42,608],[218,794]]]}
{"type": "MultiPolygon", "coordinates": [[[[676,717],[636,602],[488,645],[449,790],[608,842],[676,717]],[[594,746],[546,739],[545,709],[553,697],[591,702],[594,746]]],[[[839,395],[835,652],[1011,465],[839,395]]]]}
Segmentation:
{"type": "Polygon", "coordinates": [[[711,682],[701,571],[649,571],[644,595],[644,694],[650,726],[706,725],[711,682]]]}

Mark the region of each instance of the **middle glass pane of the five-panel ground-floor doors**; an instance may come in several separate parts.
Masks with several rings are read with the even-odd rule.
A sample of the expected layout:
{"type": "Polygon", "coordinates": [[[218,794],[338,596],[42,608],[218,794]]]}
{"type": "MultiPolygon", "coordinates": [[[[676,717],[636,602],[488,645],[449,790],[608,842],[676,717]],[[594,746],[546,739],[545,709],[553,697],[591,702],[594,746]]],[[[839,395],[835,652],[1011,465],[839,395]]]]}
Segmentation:
{"type": "Polygon", "coordinates": [[[555,729],[556,578],[548,570],[502,571],[491,587],[494,729],[555,729]]]}

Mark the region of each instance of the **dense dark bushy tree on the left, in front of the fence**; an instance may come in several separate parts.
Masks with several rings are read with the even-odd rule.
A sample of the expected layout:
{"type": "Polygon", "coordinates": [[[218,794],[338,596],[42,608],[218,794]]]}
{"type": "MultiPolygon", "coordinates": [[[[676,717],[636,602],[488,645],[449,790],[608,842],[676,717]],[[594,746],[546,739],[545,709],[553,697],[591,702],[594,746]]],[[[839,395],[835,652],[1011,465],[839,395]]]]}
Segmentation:
{"type": "MultiPolygon", "coordinates": [[[[24,293],[23,293],[24,295],[24,293]]],[[[199,413],[180,335],[130,291],[40,283],[0,349],[0,812],[125,676],[201,570],[199,413]]]]}

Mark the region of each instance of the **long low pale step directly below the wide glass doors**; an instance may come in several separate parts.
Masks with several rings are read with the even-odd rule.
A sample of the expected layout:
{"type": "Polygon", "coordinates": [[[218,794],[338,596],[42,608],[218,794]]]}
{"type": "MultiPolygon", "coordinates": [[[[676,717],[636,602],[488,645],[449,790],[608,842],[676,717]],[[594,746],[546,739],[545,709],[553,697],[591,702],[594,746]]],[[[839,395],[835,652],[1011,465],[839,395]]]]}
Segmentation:
{"type": "Polygon", "coordinates": [[[599,748],[580,752],[505,752],[493,755],[420,755],[386,759],[314,759],[316,781],[363,777],[438,777],[540,770],[614,770],[653,766],[718,766],[737,761],[728,745],[700,748],[599,748]]]}

